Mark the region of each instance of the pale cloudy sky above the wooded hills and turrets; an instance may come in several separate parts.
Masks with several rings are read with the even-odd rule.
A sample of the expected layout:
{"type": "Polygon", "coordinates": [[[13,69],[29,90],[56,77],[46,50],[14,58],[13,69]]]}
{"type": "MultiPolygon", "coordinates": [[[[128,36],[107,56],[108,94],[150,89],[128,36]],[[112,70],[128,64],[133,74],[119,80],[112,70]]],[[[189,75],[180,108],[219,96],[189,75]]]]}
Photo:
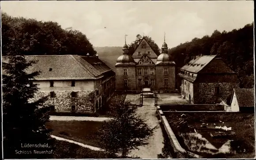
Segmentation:
{"type": "Polygon", "coordinates": [[[14,17],[58,22],[84,33],[94,47],[130,44],[136,35],[150,36],[169,48],[231,31],[254,20],[253,1],[1,1],[14,17]]]}

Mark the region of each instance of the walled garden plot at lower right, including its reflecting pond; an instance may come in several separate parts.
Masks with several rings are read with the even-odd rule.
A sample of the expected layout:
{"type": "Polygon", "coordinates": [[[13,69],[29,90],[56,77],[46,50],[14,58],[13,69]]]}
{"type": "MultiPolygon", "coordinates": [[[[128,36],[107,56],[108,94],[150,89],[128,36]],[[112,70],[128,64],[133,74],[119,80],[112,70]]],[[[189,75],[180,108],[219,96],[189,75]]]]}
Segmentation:
{"type": "Polygon", "coordinates": [[[254,114],[169,112],[165,115],[181,146],[192,153],[205,158],[255,156],[254,114]]]}

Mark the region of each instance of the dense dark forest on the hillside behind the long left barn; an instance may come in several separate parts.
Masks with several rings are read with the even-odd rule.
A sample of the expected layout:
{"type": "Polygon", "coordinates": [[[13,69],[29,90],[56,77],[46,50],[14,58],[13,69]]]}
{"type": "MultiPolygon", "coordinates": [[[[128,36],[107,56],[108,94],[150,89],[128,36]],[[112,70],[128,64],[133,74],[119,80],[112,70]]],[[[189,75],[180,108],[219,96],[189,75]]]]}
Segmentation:
{"type": "Polygon", "coordinates": [[[64,30],[56,22],[42,22],[2,13],[2,55],[96,54],[86,35],[64,30]]]}

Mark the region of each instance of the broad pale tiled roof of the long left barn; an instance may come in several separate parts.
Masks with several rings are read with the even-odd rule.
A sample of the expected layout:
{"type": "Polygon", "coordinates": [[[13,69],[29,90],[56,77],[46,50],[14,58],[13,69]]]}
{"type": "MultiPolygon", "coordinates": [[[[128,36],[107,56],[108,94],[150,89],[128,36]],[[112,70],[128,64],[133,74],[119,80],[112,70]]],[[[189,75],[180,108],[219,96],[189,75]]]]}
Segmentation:
{"type": "MultiPolygon", "coordinates": [[[[84,60],[82,56],[37,55],[25,56],[25,58],[28,61],[37,61],[36,64],[28,67],[26,70],[28,74],[35,71],[41,71],[41,73],[35,78],[36,80],[98,79],[102,77],[101,72],[103,71],[103,69],[98,69],[92,66],[90,63],[84,60]]],[[[96,57],[90,58],[98,59],[96,57]]],[[[8,63],[8,57],[3,56],[2,61],[8,63]]],[[[4,71],[2,73],[5,74],[4,71]]]]}

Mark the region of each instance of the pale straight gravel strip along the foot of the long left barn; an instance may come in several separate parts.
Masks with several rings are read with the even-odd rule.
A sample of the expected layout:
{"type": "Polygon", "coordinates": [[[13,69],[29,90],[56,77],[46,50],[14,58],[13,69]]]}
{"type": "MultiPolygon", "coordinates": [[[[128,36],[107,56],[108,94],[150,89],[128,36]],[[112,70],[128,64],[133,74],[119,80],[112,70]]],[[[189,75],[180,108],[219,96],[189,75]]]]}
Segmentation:
{"type": "Polygon", "coordinates": [[[76,121],[105,121],[109,120],[111,118],[106,118],[106,117],[76,117],[76,116],[55,116],[51,115],[50,120],[58,120],[58,121],[71,121],[71,120],[76,120],[76,121]]]}

